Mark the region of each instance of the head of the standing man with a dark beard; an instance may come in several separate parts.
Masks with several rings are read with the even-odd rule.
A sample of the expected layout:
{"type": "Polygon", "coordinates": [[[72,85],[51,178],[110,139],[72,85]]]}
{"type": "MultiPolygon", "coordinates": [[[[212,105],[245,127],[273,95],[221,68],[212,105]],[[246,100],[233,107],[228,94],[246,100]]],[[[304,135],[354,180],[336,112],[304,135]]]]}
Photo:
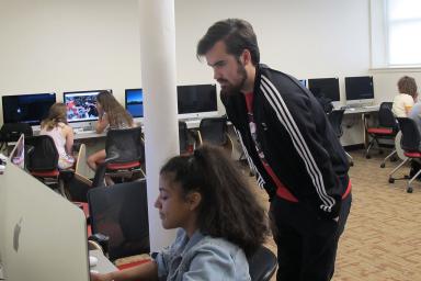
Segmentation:
{"type": "Polygon", "coordinates": [[[258,40],[251,24],[244,20],[227,19],[214,23],[197,44],[196,55],[205,56],[214,69],[214,79],[223,93],[243,89],[260,61],[258,40]]]}

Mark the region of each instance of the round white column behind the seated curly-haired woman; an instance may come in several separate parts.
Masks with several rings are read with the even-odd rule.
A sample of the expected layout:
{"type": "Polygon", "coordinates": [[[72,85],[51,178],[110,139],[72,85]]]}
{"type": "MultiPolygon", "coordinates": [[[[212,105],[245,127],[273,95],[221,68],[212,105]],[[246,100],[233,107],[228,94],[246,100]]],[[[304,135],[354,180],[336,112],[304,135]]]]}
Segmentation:
{"type": "Polygon", "coordinates": [[[175,236],[174,231],[162,228],[153,206],[159,169],[179,153],[174,1],[139,0],[139,9],[149,237],[150,250],[157,251],[175,236]]]}

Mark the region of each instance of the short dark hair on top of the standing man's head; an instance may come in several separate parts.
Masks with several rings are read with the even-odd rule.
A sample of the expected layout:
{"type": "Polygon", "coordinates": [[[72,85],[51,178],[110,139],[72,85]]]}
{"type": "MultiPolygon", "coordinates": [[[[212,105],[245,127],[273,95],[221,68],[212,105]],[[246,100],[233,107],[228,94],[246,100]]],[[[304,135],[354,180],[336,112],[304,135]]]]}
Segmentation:
{"type": "Polygon", "coordinates": [[[249,22],[227,19],[214,23],[197,44],[197,58],[204,56],[218,41],[223,41],[227,46],[227,53],[236,57],[239,57],[244,49],[250,50],[251,61],[254,66],[259,64],[258,40],[249,22]]]}

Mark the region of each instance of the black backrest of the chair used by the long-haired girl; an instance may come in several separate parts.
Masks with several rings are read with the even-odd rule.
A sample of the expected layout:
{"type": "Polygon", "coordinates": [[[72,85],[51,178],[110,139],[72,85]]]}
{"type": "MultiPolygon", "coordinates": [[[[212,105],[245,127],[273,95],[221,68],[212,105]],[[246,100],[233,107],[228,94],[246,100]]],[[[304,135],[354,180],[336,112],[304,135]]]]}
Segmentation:
{"type": "Polygon", "coordinates": [[[144,161],[145,146],[141,127],[110,130],[105,140],[106,157],[118,154],[112,162],[144,161]]]}

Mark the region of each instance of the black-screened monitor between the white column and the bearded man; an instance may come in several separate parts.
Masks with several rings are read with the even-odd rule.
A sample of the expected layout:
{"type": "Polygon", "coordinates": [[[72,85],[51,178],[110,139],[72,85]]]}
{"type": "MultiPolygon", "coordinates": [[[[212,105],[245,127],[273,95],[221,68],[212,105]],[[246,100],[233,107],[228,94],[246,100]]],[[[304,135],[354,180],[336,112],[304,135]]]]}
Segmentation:
{"type": "Polygon", "coordinates": [[[179,119],[202,119],[218,115],[216,85],[177,87],[179,119]]]}

